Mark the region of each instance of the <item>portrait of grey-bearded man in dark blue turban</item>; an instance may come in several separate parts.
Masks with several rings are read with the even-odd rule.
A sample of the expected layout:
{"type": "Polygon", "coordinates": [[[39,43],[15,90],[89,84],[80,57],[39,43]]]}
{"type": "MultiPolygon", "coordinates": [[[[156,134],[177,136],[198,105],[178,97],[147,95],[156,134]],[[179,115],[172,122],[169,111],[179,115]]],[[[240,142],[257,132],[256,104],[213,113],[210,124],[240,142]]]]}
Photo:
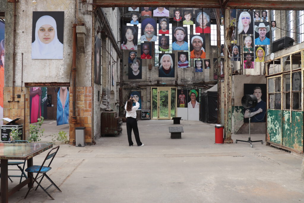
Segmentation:
{"type": "Polygon", "coordinates": [[[141,22],[141,41],[155,42],[157,37],[156,33],[156,21],[154,18],[146,18],[141,22]]]}

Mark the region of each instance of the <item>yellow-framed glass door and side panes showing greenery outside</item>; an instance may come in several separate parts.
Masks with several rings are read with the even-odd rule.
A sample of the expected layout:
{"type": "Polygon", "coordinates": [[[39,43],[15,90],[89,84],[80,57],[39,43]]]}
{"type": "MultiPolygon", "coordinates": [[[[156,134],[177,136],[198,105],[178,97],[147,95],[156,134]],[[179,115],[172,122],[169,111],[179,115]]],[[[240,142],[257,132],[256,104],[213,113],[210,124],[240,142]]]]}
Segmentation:
{"type": "Polygon", "coordinates": [[[151,119],[170,120],[176,113],[176,87],[151,87],[151,119]]]}

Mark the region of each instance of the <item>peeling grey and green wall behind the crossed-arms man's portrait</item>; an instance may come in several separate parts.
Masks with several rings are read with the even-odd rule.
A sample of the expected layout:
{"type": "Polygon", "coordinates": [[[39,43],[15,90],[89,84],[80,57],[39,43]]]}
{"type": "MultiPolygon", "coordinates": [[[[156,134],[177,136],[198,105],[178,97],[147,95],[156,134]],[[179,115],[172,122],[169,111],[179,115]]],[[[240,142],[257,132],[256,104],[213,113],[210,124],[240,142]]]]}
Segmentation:
{"type": "MultiPolygon", "coordinates": [[[[263,75],[233,75],[232,76],[232,124],[231,132],[246,134],[249,126],[244,123],[244,107],[241,99],[244,96],[244,83],[266,84],[263,75]]],[[[262,93],[263,94],[263,93],[262,93]]],[[[266,94],[266,92],[264,93],[266,94]]],[[[266,102],[266,101],[265,101],[266,102]]],[[[253,123],[252,123],[253,124],[253,123]]],[[[265,123],[254,123],[255,128],[250,128],[251,133],[265,133],[265,123]],[[261,132],[261,130],[263,132],[261,132]]]]}

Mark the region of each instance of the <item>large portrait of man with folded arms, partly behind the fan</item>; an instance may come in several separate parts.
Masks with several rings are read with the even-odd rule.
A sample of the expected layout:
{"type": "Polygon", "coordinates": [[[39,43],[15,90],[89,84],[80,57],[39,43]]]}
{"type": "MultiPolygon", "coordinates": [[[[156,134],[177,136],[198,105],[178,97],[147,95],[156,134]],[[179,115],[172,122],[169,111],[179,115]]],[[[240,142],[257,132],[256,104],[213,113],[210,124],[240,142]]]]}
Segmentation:
{"type": "MultiPolygon", "coordinates": [[[[244,95],[253,94],[257,97],[257,105],[254,108],[244,109],[244,123],[265,122],[266,101],[267,101],[266,84],[244,84],[244,95]]],[[[274,101],[273,101],[274,102],[274,101]]]]}

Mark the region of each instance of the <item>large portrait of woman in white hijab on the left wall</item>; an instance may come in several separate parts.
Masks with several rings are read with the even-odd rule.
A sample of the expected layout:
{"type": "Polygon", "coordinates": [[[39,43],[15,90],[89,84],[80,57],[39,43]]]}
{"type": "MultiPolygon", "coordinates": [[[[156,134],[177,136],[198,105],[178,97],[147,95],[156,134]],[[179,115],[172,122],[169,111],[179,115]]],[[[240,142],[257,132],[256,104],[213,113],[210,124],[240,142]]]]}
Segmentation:
{"type": "MultiPolygon", "coordinates": [[[[61,14],[62,21],[64,22],[64,12],[43,12],[54,13],[54,16],[61,14]]],[[[50,15],[41,16],[35,23],[35,16],[41,16],[41,12],[33,12],[33,36],[32,37],[32,59],[63,59],[63,43],[58,39],[58,27],[54,17],[50,15]],[[35,30],[34,30],[35,29],[35,30]]],[[[58,21],[57,21],[58,22],[58,21]]],[[[60,33],[63,41],[63,23],[60,33]]]]}

